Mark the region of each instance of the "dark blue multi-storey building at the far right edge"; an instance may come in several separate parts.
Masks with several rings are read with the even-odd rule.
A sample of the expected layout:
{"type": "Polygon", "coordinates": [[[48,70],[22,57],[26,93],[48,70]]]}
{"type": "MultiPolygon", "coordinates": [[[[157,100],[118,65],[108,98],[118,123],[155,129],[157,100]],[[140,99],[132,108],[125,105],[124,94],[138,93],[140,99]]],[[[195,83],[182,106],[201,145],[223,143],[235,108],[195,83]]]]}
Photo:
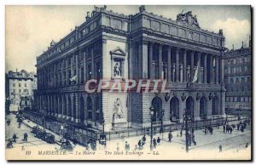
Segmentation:
{"type": "Polygon", "coordinates": [[[252,48],[232,49],[225,53],[224,76],[227,111],[252,110],[252,48]]]}

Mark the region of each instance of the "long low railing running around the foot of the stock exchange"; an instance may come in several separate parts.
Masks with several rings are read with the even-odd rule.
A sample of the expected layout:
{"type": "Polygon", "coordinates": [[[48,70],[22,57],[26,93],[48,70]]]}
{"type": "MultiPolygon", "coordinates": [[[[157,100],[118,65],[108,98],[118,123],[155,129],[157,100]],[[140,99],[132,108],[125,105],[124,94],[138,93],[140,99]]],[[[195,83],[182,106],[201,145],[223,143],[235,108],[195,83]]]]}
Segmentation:
{"type": "MultiPolygon", "coordinates": [[[[24,111],[24,116],[32,122],[36,122],[39,125],[42,125],[42,117],[37,113],[31,111],[24,111]]],[[[251,119],[251,117],[214,117],[212,119],[206,119],[201,121],[189,122],[191,128],[203,129],[205,126],[222,126],[226,122],[234,122],[240,120],[251,119]]],[[[55,134],[61,134],[61,121],[46,117],[46,128],[53,131],[55,134]]],[[[83,128],[79,124],[74,122],[67,122],[67,127],[64,128],[64,132],[67,133],[66,136],[68,139],[77,139],[79,144],[84,145],[88,139],[99,139],[100,133],[97,130],[91,130],[90,128],[83,128]]],[[[160,122],[154,122],[153,124],[153,134],[160,133],[160,122]]],[[[175,130],[181,130],[183,128],[183,123],[172,123],[164,124],[163,131],[170,132],[175,130]]],[[[145,128],[124,128],[124,130],[110,131],[105,132],[107,140],[111,139],[124,139],[135,136],[142,136],[144,134],[151,134],[150,127],[145,128]]]]}

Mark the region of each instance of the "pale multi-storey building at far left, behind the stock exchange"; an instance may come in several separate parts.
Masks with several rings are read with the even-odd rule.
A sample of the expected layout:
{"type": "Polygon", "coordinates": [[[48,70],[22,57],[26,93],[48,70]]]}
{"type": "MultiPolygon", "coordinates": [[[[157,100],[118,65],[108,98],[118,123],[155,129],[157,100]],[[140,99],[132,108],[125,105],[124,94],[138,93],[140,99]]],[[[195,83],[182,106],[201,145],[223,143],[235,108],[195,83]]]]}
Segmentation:
{"type": "Polygon", "coordinates": [[[37,75],[25,70],[9,71],[6,82],[9,111],[32,109],[33,90],[37,88],[37,75]]]}

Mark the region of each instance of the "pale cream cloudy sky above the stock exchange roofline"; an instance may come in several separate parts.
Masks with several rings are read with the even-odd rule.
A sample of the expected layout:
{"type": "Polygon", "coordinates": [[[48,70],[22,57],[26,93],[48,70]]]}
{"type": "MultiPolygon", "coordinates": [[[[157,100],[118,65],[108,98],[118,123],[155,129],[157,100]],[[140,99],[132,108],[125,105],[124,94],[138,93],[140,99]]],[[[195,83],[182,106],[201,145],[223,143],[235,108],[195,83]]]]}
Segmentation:
{"type": "MultiPolygon", "coordinates": [[[[101,6],[100,6],[101,7],[101,6]]],[[[49,47],[52,40],[60,41],[75,26],[85,21],[93,6],[6,6],[5,9],[5,69],[36,71],[36,57],[49,47]]],[[[136,14],[138,5],[111,6],[119,14],[136,14]]],[[[150,13],[176,20],[177,14],[192,11],[201,29],[218,32],[223,29],[225,47],[247,46],[251,35],[250,6],[150,6],[150,13]]]]}

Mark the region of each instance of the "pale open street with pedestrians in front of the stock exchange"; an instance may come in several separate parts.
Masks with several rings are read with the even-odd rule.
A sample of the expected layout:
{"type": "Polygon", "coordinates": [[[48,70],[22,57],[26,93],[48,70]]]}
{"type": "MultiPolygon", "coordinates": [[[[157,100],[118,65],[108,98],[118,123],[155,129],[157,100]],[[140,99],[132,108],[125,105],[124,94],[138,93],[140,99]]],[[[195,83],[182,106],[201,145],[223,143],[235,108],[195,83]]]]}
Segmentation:
{"type": "MultiPolygon", "coordinates": [[[[28,120],[24,120],[21,124],[21,127],[18,128],[18,122],[16,122],[15,115],[10,114],[9,116],[6,116],[11,120],[10,125],[6,125],[6,141],[10,138],[12,138],[13,134],[17,134],[17,142],[14,143],[14,148],[7,149],[7,152],[12,154],[19,154],[20,156],[26,156],[26,151],[32,151],[33,156],[41,156],[42,154],[48,155],[49,153],[53,152],[60,152],[61,146],[57,144],[48,144],[44,142],[42,139],[38,139],[34,137],[34,134],[31,133],[32,127],[36,126],[36,123],[33,123],[28,120]],[[28,134],[28,140],[27,142],[24,142],[23,134],[28,134]],[[24,147],[24,150],[21,150],[22,146],[24,147]]],[[[234,122],[236,123],[236,122],[234,122]]],[[[231,124],[231,123],[230,123],[231,124]]],[[[251,145],[246,149],[245,145],[246,143],[251,144],[251,130],[250,126],[247,126],[247,129],[243,133],[241,131],[237,131],[236,129],[232,132],[232,134],[224,133],[222,126],[220,128],[213,128],[213,134],[207,134],[205,135],[203,130],[195,130],[195,141],[196,145],[189,146],[189,154],[185,151],[185,132],[183,131],[183,136],[180,137],[180,130],[172,132],[172,142],[168,142],[168,133],[164,134],[155,134],[153,138],[157,139],[160,137],[160,144],[154,148],[153,151],[149,150],[150,146],[150,136],[146,135],[146,143],[143,145],[142,149],[136,149],[136,145],[138,147],[138,140],[142,139],[143,136],[140,137],[130,137],[126,139],[113,139],[110,141],[107,141],[107,145],[100,145],[97,141],[96,145],[96,151],[92,151],[89,147],[88,150],[85,150],[85,147],[82,145],[73,145],[74,150],[73,151],[67,151],[66,156],[58,155],[60,156],[60,159],[66,159],[67,156],[73,156],[75,159],[93,159],[94,156],[97,154],[100,154],[102,156],[112,156],[113,153],[115,153],[117,158],[122,159],[123,154],[125,154],[125,157],[127,156],[127,159],[137,159],[139,157],[148,156],[151,155],[150,158],[157,158],[157,156],[160,156],[161,158],[166,157],[166,159],[178,159],[179,156],[185,156],[183,159],[191,159],[193,156],[197,156],[197,159],[204,159],[209,157],[212,158],[215,157],[216,159],[221,159],[223,156],[226,158],[233,157],[233,158],[239,158],[240,156],[244,156],[245,154],[250,155],[250,148],[251,145]],[[127,144],[130,145],[130,150],[126,153],[125,152],[125,142],[127,141],[127,144]],[[222,153],[219,153],[218,146],[223,146],[222,153]],[[207,155],[205,154],[205,151],[207,151],[207,155]],[[81,155],[81,152],[86,155],[81,155]],[[143,152],[143,153],[142,153],[143,152]],[[96,154],[97,153],[97,154],[96,154]],[[110,154],[110,155],[109,155],[110,154]],[[127,154],[127,155],[126,155],[127,154]],[[232,156],[230,156],[230,154],[232,156]],[[120,156],[119,156],[120,155],[120,156]]],[[[47,132],[50,132],[47,130],[47,132]]],[[[54,134],[54,133],[52,133],[54,134]]],[[[59,140],[60,137],[57,134],[55,135],[55,140],[59,140]]],[[[64,154],[64,155],[65,155],[64,154]]],[[[49,154],[50,155],[50,154],[49,154]]],[[[83,154],[82,154],[83,155],[83,154]]],[[[50,155],[52,156],[52,155],[50,155]]],[[[13,157],[13,156],[12,156],[13,157]]],[[[55,156],[53,156],[54,159],[55,156]]],[[[32,158],[31,156],[27,156],[27,159],[32,158]]],[[[48,158],[48,156],[47,156],[48,158]]],[[[44,159],[44,157],[43,157],[44,159]]]]}

